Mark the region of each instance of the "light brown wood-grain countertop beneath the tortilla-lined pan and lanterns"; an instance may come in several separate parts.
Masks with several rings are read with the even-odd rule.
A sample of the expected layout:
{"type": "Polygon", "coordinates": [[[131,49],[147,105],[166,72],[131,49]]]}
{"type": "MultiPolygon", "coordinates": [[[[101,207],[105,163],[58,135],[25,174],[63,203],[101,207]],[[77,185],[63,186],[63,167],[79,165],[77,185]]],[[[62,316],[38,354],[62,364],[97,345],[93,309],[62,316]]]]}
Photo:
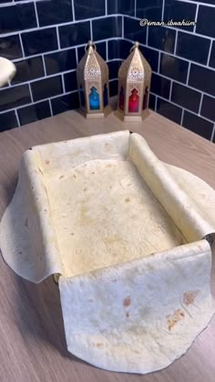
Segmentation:
{"type": "MultiPolygon", "coordinates": [[[[163,161],[189,170],[215,188],[215,145],[168,119],[149,112],[142,123],[123,123],[113,114],[89,121],[69,111],[0,134],[0,218],[15,191],[19,161],[27,148],[126,129],[144,136],[163,161]]],[[[185,356],[166,369],[145,376],[108,372],[67,352],[59,293],[52,277],[35,285],[16,276],[2,257],[0,273],[0,381],[215,381],[215,317],[185,356]]],[[[211,284],[215,297],[215,266],[211,284]]]]}

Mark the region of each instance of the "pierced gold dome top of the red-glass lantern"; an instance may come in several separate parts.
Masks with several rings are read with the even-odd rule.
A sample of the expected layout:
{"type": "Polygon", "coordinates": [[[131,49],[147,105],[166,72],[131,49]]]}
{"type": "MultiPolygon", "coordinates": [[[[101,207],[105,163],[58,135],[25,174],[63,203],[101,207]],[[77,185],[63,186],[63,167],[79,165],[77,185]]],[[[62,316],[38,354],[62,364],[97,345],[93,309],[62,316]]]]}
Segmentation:
{"type": "Polygon", "coordinates": [[[131,47],[130,55],[120,66],[118,77],[128,82],[142,82],[151,72],[150,65],[138,49],[138,41],[131,47]]]}

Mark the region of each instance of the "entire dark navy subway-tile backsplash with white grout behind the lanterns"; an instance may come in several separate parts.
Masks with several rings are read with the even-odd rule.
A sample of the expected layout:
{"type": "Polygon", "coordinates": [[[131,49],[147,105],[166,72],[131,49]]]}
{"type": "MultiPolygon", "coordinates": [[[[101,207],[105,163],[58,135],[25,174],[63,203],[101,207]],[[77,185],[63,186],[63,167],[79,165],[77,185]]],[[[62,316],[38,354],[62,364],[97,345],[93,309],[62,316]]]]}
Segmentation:
{"type": "Polygon", "coordinates": [[[0,55],[17,74],[0,91],[0,131],[78,106],[76,67],[93,39],[110,95],[133,41],[152,67],[149,106],[215,142],[215,0],[0,0],[0,55]],[[197,21],[140,26],[139,20],[197,21]]]}

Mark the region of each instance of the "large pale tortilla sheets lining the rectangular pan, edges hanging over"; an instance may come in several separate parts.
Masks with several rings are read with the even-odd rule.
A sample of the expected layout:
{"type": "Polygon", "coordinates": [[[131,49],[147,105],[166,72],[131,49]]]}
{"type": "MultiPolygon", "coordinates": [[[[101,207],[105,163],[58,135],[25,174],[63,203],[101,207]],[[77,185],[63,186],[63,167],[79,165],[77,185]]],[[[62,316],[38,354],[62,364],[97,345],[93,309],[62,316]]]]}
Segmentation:
{"type": "Polygon", "coordinates": [[[69,351],[144,374],[185,353],[215,312],[214,209],[214,190],[142,136],[90,136],[26,151],[0,247],[28,280],[60,274],[69,351]]]}

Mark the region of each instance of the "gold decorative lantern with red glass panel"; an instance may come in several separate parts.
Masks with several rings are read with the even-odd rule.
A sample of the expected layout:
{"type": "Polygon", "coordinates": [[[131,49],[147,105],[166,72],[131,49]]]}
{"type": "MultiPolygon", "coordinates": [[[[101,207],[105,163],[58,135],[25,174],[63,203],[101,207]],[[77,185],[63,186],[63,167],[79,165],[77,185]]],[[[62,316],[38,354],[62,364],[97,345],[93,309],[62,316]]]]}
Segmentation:
{"type": "Polygon", "coordinates": [[[151,68],[138,49],[138,42],[118,69],[118,111],[124,121],[139,122],[148,108],[151,68]]]}

